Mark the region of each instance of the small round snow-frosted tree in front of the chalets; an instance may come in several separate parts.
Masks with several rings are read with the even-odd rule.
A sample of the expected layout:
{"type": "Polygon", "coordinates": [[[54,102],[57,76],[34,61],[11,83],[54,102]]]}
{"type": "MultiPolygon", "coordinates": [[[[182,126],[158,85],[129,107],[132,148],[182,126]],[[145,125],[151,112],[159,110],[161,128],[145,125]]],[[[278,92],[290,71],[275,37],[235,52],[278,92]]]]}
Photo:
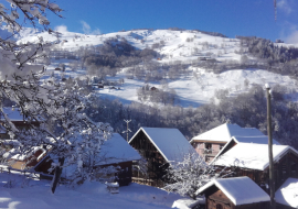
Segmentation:
{"type": "Polygon", "coordinates": [[[182,162],[172,162],[167,172],[170,184],[164,189],[192,199],[196,199],[195,191],[206,183],[227,175],[214,164],[206,164],[195,152],[185,154],[182,162]]]}

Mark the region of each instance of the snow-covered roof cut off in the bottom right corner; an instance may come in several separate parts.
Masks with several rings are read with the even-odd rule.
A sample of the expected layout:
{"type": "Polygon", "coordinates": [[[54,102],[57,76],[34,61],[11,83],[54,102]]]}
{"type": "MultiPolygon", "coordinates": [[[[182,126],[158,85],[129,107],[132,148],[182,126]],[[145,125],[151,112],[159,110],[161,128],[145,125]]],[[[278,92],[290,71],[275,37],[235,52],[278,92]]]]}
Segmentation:
{"type": "Polygon", "coordinates": [[[298,179],[288,178],[275,193],[275,200],[285,206],[298,208],[298,179]]]}

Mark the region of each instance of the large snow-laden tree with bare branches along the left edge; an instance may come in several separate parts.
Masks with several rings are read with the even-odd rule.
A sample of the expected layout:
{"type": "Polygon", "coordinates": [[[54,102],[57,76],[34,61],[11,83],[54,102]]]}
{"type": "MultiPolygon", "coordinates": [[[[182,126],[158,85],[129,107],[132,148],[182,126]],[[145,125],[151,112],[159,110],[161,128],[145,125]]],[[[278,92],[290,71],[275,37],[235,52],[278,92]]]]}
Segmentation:
{"type": "Polygon", "coordinates": [[[44,42],[42,37],[25,44],[12,38],[22,30],[22,24],[19,23],[20,13],[34,28],[39,25],[49,33],[54,33],[49,28],[45,11],[60,15],[62,10],[58,6],[49,0],[7,1],[10,9],[0,3],[1,26],[11,35],[0,38],[0,99],[2,101],[9,98],[15,103],[29,129],[19,130],[14,127],[3,111],[3,102],[0,102],[0,114],[4,118],[3,127],[10,138],[20,142],[13,150],[14,154],[31,153],[36,146],[50,147],[51,154],[56,157],[52,165],[54,193],[62,168],[67,165],[75,165],[76,174],[82,179],[89,178],[100,145],[109,138],[111,128],[92,121],[84,113],[85,106],[93,101],[93,96],[86,95],[78,80],[71,88],[55,78],[40,82],[49,63],[51,43],[44,42]],[[49,127],[51,121],[57,127],[55,131],[49,127]]]}

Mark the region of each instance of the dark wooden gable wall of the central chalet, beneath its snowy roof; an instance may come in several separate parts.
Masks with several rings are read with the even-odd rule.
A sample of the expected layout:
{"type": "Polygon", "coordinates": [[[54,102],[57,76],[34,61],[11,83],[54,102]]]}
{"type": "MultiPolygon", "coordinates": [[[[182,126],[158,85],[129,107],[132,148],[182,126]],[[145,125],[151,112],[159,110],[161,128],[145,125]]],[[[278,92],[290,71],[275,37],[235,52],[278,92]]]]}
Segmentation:
{"type": "Polygon", "coordinates": [[[132,180],[150,186],[164,186],[167,182],[164,175],[169,164],[142,130],[134,138],[130,145],[148,162],[148,175],[143,176],[139,172],[134,172],[132,180]]]}

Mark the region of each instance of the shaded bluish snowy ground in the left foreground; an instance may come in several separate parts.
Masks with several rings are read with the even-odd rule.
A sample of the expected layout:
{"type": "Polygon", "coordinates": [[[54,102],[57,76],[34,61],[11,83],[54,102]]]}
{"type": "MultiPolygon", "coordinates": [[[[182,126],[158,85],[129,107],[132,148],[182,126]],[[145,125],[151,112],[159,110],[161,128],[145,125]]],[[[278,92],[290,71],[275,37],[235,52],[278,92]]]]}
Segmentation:
{"type": "Polygon", "coordinates": [[[53,195],[49,180],[28,180],[23,176],[0,174],[0,208],[7,209],[124,209],[171,208],[178,195],[145,185],[130,184],[111,195],[100,183],[85,183],[77,188],[60,186],[53,195]],[[6,188],[11,182],[13,187],[6,188]]]}

